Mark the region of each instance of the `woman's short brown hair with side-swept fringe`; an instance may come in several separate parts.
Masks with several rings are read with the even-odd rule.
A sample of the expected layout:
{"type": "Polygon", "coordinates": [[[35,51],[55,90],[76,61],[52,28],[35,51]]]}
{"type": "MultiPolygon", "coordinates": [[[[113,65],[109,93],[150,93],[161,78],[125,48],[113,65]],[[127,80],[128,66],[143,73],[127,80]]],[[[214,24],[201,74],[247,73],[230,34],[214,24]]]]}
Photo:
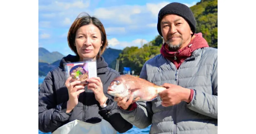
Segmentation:
{"type": "Polygon", "coordinates": [[[96,17],[91,17],[87,13],[80,13],[76,20],[73,22],[73,24],[70,26],[68,30],[68,46],[71,48],[71,50],[78,56],[76,46],[75,46],[75,38],[76,38],[76,31],[84,25],[93,24],[94,26],[97,26],[100,29],[101,34],[101,41],[103,41],[102,46],[100,47],[100,51],[97,55],[97,58],[100,58],[100,56],[103,54],[105,49],[108,47],[108,41],[107,41],[107,35],[104,29],[103,24],[100,22],[99,19],[96,17]]]}

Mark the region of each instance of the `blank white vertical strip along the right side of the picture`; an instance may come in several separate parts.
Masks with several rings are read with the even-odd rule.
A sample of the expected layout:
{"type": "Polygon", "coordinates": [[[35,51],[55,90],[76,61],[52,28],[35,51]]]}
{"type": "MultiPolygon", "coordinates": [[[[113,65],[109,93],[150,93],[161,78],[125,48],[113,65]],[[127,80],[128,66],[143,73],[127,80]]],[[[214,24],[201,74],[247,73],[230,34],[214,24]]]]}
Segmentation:
{"type": "Polygon", "coordinates": [[[219,134],[256,127],[255,1],[218,1],[219,134]]]}

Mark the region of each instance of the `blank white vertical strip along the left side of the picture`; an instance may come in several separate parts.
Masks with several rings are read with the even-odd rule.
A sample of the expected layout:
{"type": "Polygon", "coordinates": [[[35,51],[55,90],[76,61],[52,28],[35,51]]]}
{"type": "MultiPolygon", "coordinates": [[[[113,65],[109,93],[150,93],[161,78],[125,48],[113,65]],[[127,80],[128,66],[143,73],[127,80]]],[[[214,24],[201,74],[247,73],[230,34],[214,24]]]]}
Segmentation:
{"type": "Polygon", "coordinates": [[[0,133],[38,131],[38,1],[0,4],[0,133]]]}

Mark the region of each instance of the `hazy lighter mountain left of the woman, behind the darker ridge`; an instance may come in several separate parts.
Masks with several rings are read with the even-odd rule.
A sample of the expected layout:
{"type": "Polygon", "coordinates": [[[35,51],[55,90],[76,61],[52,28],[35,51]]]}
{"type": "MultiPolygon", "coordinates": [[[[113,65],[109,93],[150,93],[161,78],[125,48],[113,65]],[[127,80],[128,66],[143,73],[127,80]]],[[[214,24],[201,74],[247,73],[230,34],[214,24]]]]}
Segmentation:
{"type": "Polygon", "coordinates": [[[38,48],[38,62],[53,63],[60,60],[64,55],[59,52],[49,52],[45,48],[38,48]]]}

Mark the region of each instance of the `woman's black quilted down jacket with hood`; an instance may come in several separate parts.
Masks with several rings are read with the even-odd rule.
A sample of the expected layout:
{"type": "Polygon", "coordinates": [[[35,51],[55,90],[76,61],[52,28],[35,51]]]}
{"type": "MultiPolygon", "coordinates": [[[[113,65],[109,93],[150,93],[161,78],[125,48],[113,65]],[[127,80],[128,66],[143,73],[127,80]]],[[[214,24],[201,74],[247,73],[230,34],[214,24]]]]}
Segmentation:
{"type": "Polygon", "coordinates": [[[85,88],[78,98],[78,104],[66,114],[68,89],[65,86],[66,74],[63,63],[78,62],[77,56],[63,57],[60,66],[49,71],[38,93],[38,128],[42,132],[53,132],[60,126],[80,120],[89,123],[98,123],[101,119],[107,120],[119,133],[132,128],[132,124],[122,118],[117,111],[117,103],[107,94],[110,82],[119,76],[119,73],[108,67],[103,57],[97,60],[97,74],[103,83],[103,91],[110,98],[108,106],[101,108],[95,99],[94,93],[85,88]]]}

